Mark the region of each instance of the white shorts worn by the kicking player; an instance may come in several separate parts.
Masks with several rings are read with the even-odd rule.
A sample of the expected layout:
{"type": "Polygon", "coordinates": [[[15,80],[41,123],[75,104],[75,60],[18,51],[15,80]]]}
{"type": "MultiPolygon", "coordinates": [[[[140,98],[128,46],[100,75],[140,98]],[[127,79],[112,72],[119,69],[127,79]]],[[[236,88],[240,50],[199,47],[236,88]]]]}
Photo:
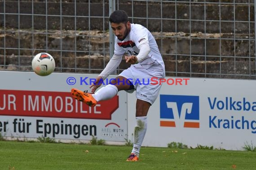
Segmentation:
{"type": "Polygon", "coordinates": [[[159,83],[157,85],[155,85],[156,83],[153,83],[154,85],[152,85],[151,78],[153,76],[141,72],[132,66],[121,72],[119,76],[123,76],[131,81],[134,85],[134,89],[126,91],[128,93],[133,93],[134,90],[136,90],[137,99],[149,102],[152,105],[158,97],[162,85],[159,85],[159,83]]]}

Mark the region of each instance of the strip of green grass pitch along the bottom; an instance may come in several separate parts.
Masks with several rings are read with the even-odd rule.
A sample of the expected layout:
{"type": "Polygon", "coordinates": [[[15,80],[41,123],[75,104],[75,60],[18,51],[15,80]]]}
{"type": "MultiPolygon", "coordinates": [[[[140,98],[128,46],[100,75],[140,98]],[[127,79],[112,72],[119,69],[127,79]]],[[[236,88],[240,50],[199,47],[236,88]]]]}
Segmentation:
{"type": "Polygon", "coordinates": [[[253,170],[256,152],[0,141],[1,170],[253,170]],[[86,152],[88,151],[88,152],[86,152]],[[175,152],[174,152],[175,151],[175,152]]]}

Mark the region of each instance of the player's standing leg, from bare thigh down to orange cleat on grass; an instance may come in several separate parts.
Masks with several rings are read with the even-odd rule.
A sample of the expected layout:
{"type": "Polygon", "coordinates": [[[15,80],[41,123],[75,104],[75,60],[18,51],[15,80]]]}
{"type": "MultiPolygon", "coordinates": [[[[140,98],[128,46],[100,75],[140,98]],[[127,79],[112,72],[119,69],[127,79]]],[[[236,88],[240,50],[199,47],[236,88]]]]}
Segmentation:
{"type": "Polygon", "coordinates": [[[136,126],[134,127],[134,140],[132,153],[127,161],[137,161],[141,149],[142,141],[147,130],[147,113],[151,104],[149,102],[137,99],[136,102],[136,126]]]}

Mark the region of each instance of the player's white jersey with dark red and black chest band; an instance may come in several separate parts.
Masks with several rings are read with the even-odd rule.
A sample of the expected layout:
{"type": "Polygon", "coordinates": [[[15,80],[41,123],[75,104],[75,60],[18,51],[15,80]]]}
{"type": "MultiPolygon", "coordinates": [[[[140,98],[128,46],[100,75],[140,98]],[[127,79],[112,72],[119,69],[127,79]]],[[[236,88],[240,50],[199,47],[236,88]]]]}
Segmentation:
{"type": "Polygon", "coordinates": [[[159,52],[153,35],[144,26],[139,24],[131,24],[131,30],[123,41],[120,41],[117,37],[115,37],[114,54],[124,55],[124,53],[127,53],[128,55],[138,55],[139,49],[137,47],[143,43],[149,43],[150,53],[141,62],[138,64],[132,64],[131,67],[134,67],[141,72],[145,72],[150,76],[160,78],[164,77],[165,68],[162,55],[159,52]]]}

